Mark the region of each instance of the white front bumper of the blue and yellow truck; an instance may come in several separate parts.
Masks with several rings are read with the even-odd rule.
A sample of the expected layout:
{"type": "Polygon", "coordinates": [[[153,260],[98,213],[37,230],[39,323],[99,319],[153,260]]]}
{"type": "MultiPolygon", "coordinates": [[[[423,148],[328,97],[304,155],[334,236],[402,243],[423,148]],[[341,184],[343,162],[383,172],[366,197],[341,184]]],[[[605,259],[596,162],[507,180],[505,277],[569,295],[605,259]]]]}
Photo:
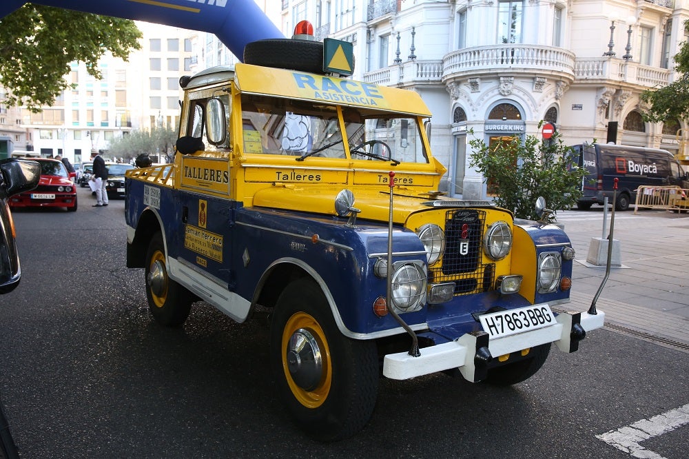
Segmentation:
{"type": "MultiPolygon", "coordinates": [[[[574,351],[576,345],[570,337],[573,323],[577,323],[578,320],[579,325],[588,333],[603,327],[605,313],[598,311],[592,315],[588,312],[563,312],[556,320],[557,323],[549,327],[490,340],[488,348],[491,356],[504,356],[546,343],[555,343],[565,352],[574,351]]],[[[464,378],[475,381],[474,357],[478,347],[481,347],[480,344],[477,345],[477,341],[486,341],[485,335],[484,332],[465,334],[451,343],[424,347],[420,349],[421,355],[418,357],[410,356],[408,352],[388,354],[383,360],[383,376],[391,379],[409,379],[458,368],[464,378]]]]}

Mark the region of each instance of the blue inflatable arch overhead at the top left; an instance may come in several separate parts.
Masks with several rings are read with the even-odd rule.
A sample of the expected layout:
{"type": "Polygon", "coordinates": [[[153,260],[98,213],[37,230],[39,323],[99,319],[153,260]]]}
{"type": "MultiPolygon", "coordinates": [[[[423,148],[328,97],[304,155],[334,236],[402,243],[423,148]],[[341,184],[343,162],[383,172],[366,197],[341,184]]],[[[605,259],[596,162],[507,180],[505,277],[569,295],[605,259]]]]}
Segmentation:
{"type": "MultiPolygon", "coordinates": [[[[0,17],[24,3],[28,2],[2,0],[0,17]]],[[[245,45],[251,41],[285,38],[254,0],[32,0],[31,3],[213,33],[240,60],[245,45]]]]}

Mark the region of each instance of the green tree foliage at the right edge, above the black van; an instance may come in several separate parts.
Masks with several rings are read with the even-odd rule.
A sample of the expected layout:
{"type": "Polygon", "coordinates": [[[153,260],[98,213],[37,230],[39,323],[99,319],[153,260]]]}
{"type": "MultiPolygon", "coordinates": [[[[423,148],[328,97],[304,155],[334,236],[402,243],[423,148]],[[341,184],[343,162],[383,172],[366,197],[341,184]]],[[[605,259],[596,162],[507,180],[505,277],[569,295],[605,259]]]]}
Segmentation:
{"type": "MultiPolygon", "coordinates": [[[[689,21],[684,22],[684,30],[689,32],[689,21]]],[[[689,42],[682,43],[674,59],[675,70],[681,76],[662,88],[641,92],[641,101],[650,104],[643,114],[646,121],[659,123],[689,118],[689,42]]]]}

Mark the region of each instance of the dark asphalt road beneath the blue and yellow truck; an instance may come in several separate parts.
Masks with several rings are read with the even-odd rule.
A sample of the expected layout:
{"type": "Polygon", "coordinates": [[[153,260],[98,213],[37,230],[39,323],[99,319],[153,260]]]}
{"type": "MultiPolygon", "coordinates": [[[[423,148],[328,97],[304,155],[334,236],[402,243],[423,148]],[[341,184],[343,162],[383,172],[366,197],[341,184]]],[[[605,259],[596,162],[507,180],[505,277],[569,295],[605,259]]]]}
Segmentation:
{"type": "MultiPolygon", "coordinates": [[[[0,395],[22,458],[629,458],[604,439],[681,421],[689,403],[689,354],[603,329],[515,387],[381,379],[358,436],[313,442],[274,399],[265,318],[239,325],[200,303],[185,327],[158,327],[142,270],[124,267],[122,201],[79,198],[74,214],[15,214],[24,278],[0,297],[0,395]]],[[[586,241],[575,214],[566,230],[586,241]]],[[[640,446],[683,459],[688,433],[640,446]]]]}

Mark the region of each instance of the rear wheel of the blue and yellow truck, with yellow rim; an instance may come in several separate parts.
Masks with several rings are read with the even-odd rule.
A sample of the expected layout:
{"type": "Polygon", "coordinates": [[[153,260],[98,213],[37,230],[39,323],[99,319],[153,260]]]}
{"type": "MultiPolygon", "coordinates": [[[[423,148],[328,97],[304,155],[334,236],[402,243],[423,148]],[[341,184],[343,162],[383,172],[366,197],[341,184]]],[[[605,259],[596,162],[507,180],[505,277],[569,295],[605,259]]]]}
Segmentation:
{"type": "Polygon", "coordinates": [[[167,258],[163,235],[157,232],[146,252],[146,298],[148,307],[157,323],[174,327],[189,317],[192,294],[167,277],[167,258]]]}

